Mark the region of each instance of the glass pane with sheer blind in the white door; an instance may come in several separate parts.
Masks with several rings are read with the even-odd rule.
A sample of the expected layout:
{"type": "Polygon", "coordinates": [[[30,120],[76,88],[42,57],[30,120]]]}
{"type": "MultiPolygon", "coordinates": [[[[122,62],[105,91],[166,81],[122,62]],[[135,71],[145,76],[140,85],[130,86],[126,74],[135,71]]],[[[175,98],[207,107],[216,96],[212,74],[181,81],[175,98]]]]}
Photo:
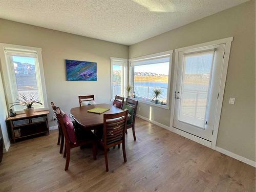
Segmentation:
{"type": "Polygon", "coordinates": [[[186,53],[183,59],[179,120],[203,129],[205,128],[214,54],[214,49],[203,50],[186,53]]]}

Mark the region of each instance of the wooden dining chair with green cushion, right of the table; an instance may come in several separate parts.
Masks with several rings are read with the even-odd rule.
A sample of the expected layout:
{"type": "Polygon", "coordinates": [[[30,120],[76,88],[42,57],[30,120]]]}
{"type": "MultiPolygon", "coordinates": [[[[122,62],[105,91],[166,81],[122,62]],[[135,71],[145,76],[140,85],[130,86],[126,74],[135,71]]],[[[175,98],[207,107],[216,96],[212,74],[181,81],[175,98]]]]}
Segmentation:
{"type": "Polygon", "coordinates": [[[125,103],[123,104],[122,110],[127,109],[128,113],[131,115],[131,118],[127,121],[126,124],[126,134],[127,129],[132,128],[133,130],[133,138],[136,141],[135,136],[135,118],[136,118],[136,111],[137,111],[138,101],[126,98],[125,103]]]}

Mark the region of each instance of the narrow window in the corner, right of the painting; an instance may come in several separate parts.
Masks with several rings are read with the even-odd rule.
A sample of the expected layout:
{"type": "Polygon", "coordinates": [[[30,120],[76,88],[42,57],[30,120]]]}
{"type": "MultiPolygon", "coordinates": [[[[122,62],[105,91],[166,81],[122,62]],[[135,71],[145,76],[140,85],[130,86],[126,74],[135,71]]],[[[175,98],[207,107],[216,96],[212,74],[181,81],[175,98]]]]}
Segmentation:
{"type": "Polygon", "coordinates": [[[111,57],[111,99],[126,95],[127,59],[111,57]]]}

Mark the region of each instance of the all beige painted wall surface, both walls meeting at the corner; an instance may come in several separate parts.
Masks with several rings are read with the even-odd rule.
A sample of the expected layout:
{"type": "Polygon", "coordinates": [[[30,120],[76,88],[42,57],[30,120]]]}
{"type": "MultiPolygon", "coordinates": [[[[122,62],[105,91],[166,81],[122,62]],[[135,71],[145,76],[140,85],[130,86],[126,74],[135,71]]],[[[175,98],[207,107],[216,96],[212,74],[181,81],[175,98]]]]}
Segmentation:
{"type": "MultiPolygon", "coordinates": [[[[78,95],[95,94],[96,102],[110,101],[110,57],[127,58],[129,54],[133,58],[230,36],[234,40],[217,146],[255,161],[254,0],[130,47],[0,19],[0,42],[42,48],[48,105],[53,101],[67,113],[78,106],[78,95]],[[65,59],[97,62],[98,81],[66,81],[65,59]],[[229,97],[237,98],[235,105],[228,104],[229,97]]],[[[0,94],[1,103],[5,103],[0,94]]],[[[169,126],[169,110],[139,105],[141,111],[138,114],[149,118],[151,107],[152,120],[169,126]]],[[[3,124],[5,111],[1,110],[0,115],[3,124]]],[[[52,116],[51,112],[49,117],[52,116]]],[[[54,122],[50,120],[52,125],[54,122]]],[[[6,135],[6,129],[2,129],[6,135]]]]}

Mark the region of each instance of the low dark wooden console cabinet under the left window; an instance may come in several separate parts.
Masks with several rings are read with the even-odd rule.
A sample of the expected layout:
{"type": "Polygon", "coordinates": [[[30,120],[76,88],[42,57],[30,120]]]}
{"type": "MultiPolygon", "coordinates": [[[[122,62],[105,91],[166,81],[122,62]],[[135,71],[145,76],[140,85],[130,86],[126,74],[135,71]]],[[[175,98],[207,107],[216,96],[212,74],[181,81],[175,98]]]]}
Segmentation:
{"type": "Polygon", "coordinates": [[[15,143],[18,139],[44,133],[49,135],[47,114],[49,114],[49,111],[38,111],[29,116],[17,114],[15,117],[8,117],[7,121],[10,125],[12,141],[15,143]]]}

